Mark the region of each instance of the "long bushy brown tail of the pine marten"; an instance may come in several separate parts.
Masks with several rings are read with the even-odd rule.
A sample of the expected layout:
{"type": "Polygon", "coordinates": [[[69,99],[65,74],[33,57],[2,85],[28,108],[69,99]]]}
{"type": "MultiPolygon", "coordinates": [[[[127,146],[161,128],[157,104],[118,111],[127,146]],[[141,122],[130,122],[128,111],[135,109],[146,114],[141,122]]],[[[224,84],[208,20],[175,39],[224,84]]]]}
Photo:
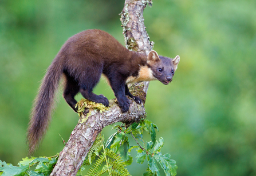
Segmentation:
{"type": "Polygon", "coordinates": [[[62,75],[62,65],[59,61],[60,56],[57,55],[52,64],[48,67],[38,95],[34,101],[29,128],[27,130],[29,155],[36,149],[38,143],[41,141],[42,137],[44,137],[44,134],[48,129],[55,92],[62,75]]]}

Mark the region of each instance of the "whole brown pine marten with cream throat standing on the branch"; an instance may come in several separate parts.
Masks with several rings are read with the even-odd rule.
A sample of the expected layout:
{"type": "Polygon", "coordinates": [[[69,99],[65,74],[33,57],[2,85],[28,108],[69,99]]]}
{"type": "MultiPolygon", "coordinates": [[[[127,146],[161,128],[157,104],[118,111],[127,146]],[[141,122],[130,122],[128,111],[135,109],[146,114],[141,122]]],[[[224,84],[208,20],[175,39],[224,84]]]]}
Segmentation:
{"type": "Polygon", "coordinates": [[[74,111],[77,111],[74,96],[79,92],[90,101],[109,105],[104,95],[92,92],[103,74],[115,93],[121,111],[125,113],[129,110],[125,95],[141,103],[139,97],[129,92],[128,83],[158,79],[167,85],[172,81],[179,61],[178,55],[170,59],[157,55],[153,50],[148,55],[129,51],[112,35],[101,30],[86,30],[73,35],[61,47],[42,80],[27,134],[29,153],[35,150],[48,128],[54,94],[62,75],[65,79],[63,96],[74,111]]]}

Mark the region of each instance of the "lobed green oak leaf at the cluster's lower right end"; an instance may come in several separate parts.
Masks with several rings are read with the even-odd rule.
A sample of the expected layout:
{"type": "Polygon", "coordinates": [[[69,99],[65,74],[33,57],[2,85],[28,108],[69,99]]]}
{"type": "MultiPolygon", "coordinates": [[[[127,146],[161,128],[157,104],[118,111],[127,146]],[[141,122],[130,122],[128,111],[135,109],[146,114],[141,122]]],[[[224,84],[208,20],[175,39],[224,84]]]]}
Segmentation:
{"type": "Polygon", "coordinates": [[[162,155],[162,153],[157,153],[154,155],[155,159],[157,162],[159,162],[160,166],[162,167],[162,169],[164,170],[164,173],[166,173],[166,175],[176,175],[176,169],[178,168],[176,166],[176,161],[174,161],[173,159],[171,159],[171,155],[170,154],[164,154],[162,155]]]}

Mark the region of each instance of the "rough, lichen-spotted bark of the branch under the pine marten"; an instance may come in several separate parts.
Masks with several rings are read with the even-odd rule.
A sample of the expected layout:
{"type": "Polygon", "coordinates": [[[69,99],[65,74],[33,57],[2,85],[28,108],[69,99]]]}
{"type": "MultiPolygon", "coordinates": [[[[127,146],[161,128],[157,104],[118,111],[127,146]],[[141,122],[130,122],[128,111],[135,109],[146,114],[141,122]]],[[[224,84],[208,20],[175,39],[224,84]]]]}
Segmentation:
{"type": "MultiPolygon", "coordinates": [[[[145,31],[143,10],[151,5],[151,1],[126,0],[121,12],[125,45],[128,49],[137,52],[148,53],[152,49],[147,31],[145,31]]],[[[149,82],[136,83],[130,87],[133,94],[137,94],[145,103],[149,82]]],[[[97,135],[108,125],[116,122],[133,123],[145,117],[144,105],[137,105],[130,99],[130,107],[127,113],[121,113],[117,102],[110,101],[110,109],[101,114],[99,111],[91,112],[86,122],[82,123],[82,116],[77,126],[72,131],[69,141],[61,151],[58,162],[50,175],[76,175],[82,165],[90,147],[97,135]]]]}

